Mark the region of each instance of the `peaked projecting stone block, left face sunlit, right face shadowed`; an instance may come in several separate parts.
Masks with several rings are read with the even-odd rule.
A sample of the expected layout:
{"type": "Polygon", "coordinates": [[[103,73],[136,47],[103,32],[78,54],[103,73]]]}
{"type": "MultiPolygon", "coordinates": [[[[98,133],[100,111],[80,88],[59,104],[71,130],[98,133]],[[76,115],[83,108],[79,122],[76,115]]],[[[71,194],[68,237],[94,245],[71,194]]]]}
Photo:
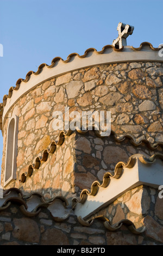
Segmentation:
{"type": "Polygon", "coordinates": [[[70,202],[73,197],[80,197],[82,190],[90,190],[94,181],[102,183],[106,172],[114,175],[116,164],[127,163],[131,155],[143,154],[149,157],[156,152],[162,153],[160,146],[156,149],[150,148],[151,144],[147,142],[136,144],[132,137],[120,139],[114,133],[109,137],[98,138],[94,131],[85,135],[76,131],[73,154],[66,143],[65,137],[65,141],[53,153],[43,151],[43,161],[30,164],[28,173],[21,172],[22,182],[18,187],[26,193],[35,188],[45,198],[64,196],[70,202]],[[66,152],[66,161],[63,152],[66,152]]]}

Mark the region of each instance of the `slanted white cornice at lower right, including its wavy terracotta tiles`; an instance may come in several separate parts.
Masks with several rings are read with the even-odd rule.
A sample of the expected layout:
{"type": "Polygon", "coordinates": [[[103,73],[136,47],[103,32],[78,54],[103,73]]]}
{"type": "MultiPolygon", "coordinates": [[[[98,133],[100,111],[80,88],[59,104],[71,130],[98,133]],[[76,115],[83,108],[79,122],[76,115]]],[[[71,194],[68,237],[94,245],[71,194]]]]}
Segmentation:
{"type": "Polygon", "coordinates": [[[162,180],[163,155],[155,153],[151,157],[135,154],[128,162],[118,162],[115,174],[106,172],[102,184],[94,181],[91,190],[83,190],[76,204],[75,214],[88,218],[104,206],[111,204],[122,194],[140,185],[158,188],[162,180]]]}

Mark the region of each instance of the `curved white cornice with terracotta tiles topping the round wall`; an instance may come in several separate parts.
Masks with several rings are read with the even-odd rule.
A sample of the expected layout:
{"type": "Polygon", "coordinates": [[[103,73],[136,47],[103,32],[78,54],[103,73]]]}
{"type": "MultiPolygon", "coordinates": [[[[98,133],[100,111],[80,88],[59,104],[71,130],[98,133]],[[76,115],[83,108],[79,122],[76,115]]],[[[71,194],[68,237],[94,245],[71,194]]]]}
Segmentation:
{"type": "Polygon", "coordinates": [[[7,117],[11,107],[22,96],[43,82],[66,74],[67,72],[89,66],[124,62],[163,62],[158,54],[159,50],[160,48],[154,48],[149,42],[142,42],[140,47],[137,48],[123,46],[117,49],[112,45],[106,45],[101,51],[97,51],[95,48],[89,48],[82,56],[78,53],[71,53],[66,60],[55,57],[51,65],[42,63],[36,72],[29,71],[25,79],[18,79],[16,86],[10,87],[8,95],[3,96],[3,103],[0,105],[0,125],[2,126],[2,119],[7,117]]]}

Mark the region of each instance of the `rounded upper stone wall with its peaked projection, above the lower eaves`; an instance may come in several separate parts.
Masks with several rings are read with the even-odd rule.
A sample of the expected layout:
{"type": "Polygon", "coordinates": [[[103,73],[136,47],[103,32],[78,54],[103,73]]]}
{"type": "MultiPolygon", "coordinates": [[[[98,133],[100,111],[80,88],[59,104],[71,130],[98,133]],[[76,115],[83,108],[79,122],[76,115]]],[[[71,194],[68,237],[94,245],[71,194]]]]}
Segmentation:
{"type": "MultiPolygon", "coordinates": [[[[137,141],[147,139],[152,144],[163,141],[162,76],[162,63],[98,65],[53,78],[24,95],[8,115],[16,114],[19,120],[17,180],[7,188],[41,190],[47,197],[52,197],[54,190],[64,196],[66,192],[70,197],[72,193],[79,196],[95,179],[101,180],[106,170],[114,170],[118,161],[127,161],[135,153],[152,155],[154,150],[148,150],[146,144],[143,148],[134,147],[127,141],[123,145],[115,143],[111,137],[99,139],[91,132],[87,137],[73,133],[26,182],[20,182],[35,157],[58,139],[59,131],[52,127],[52,113],[64,113],[65,106],[70,107],[70,112],[111,111],[111,129],[117,136],[130,134],[137,141]]],[[[2,185],[7,126],[8,118],[3,127],[2,185]]],[[[160,147],[157,150],[162,151],[160,147]]]]}

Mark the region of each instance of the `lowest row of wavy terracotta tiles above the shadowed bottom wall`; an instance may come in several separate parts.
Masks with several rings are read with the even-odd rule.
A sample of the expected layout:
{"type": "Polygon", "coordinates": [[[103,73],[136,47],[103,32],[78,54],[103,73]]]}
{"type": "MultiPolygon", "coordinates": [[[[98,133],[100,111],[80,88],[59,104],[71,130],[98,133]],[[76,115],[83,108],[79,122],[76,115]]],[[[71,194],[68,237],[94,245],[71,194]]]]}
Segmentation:
{"type": "MultiPolygon", "coordinates": [[[[0,198],[0,211],[6,210],[12,202],[18,204],[22,214],[27,217],[34,217],[39,214],[41,208],[47,208],[51,213],[53,220],[57,222],[67,220],[67,218],[70,217],[70,212],[73,209],[73,207],[71,209],[67,208],[67,200],[62,196],[55,197],[51,200],[46,200],[41,193],[37,192],[31,193],[29,196],[23,196],[22,191],[14,187],[4,191],[4,197],[0,198]]],[[[95,220],[97,220],[97,218],[102,220],[104,227],[110,231],[120,229],[122,224],[126,225],[131,233],[134,234],[141,234],[146,229],[145,227],[143,227],[141,230],[136,229],[134,223],[127,219],[111,225],[109,219],[104,215],[91,217],[87,221],[83,220],[82,217],[77,217],[77,220],[83,226],[89,227],[95,220]]]]}

